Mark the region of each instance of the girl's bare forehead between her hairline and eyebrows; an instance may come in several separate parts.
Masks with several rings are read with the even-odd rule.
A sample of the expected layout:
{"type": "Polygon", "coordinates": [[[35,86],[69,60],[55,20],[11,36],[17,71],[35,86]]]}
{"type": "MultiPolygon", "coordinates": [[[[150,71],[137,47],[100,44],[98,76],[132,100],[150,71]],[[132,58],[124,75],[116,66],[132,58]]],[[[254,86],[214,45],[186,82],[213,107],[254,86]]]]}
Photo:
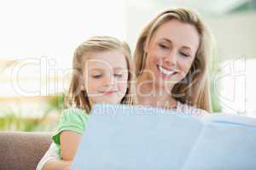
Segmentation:
{"type": "Polygon", "coordinates": [[[120,50],[109,50],[87,54],[87,67],[127,68],[125,54],[120,50]]]}

